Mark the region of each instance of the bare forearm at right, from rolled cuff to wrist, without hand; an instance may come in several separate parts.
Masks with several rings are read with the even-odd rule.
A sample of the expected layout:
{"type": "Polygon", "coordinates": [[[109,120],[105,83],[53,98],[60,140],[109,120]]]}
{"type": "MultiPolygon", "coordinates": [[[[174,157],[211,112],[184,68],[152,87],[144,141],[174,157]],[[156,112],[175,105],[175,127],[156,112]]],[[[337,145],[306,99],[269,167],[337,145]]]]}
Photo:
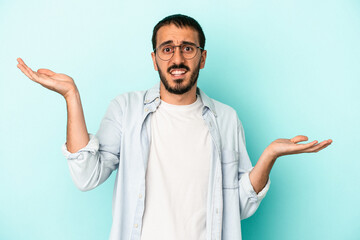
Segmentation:
{"type": "Polygon", "coordinates": [[[273,157],[266,148],[255,167],[251,170],[249,178],[256,193],[259,193],[265,187],[275,160],[276,157],[273,157]]]}

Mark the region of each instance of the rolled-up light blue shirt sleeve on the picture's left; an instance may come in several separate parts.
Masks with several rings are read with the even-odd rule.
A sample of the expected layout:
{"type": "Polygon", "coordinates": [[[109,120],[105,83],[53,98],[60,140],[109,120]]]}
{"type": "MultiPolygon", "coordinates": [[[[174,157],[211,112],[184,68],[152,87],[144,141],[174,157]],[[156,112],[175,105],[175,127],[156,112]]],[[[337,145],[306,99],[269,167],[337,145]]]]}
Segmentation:
{"type": "Polygon", "coordinates": [[[81,191],[102,184],[117,169],[120,161],[121,119],[120,104],[117,99],[113,99],[98,132],[96,135],[89,133],[90,140],[84,148],[70,153],[66,143],[62,145],[71,177],[81,191]]]}

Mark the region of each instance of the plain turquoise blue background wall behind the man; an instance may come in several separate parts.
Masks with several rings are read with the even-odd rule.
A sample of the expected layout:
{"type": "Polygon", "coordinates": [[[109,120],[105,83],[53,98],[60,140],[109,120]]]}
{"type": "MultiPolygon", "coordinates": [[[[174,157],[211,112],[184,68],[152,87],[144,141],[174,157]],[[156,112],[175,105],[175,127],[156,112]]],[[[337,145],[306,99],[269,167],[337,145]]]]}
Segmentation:
{"type": "Polygon", "coordinates": [[[159,81],[151,34],[183,13],[202,25],[199,87],[238,112],[253,164],[276,138],[333,139],[281,157],[243,239],[360,239],[360,1],[0,0],[0,239],[107,239],[113,174],[75,188],[66,105],[16,67],[74,78],[88,130],[112,98],[159,81]]]}

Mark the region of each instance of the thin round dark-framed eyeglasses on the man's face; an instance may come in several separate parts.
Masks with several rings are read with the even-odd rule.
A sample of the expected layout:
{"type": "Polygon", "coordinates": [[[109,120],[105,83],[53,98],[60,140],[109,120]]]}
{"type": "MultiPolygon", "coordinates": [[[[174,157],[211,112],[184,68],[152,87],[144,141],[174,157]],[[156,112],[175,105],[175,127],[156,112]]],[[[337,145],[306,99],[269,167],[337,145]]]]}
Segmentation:
{"type": "Polygon", "coordinates": [[[196,46],[194,43],[182,43],[180,45],[162,44],[159,47],[153,49],[159,58],[163,61],[170,60],[175,53],[175,48],[179,47],[180,52],[185,59],[192,59],[196,56],[198,49],[204,50],[202,47],[196,46]]]}

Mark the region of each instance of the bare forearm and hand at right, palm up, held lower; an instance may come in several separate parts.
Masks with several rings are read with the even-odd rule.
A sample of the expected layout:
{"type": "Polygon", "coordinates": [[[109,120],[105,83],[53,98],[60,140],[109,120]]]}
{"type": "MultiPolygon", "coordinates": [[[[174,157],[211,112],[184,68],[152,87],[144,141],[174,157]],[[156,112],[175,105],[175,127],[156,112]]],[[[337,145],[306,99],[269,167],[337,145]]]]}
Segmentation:
{"type": "Polygon", "coordinates": [[[325,140],[318,143],[316,140],[306,144],[298,144],[307,141],[306,136],[296,136],[292,139],[277,139],[272,142],[262,153],[255,167],[249,174],[251,185],[256,193],[259,193],[269,179],[271,168],[276,159],[280,156],[298,153],[318,152],[332,143],[332,140],[325,140]]]}

